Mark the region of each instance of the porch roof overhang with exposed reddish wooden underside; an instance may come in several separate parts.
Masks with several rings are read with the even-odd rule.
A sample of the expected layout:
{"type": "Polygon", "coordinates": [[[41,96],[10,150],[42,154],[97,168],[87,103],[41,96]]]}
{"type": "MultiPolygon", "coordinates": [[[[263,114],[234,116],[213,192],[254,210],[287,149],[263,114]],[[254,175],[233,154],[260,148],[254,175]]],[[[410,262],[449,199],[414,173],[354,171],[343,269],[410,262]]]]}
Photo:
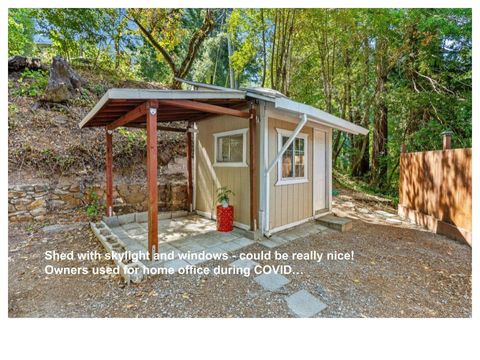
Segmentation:
{"type": "MultiPolygon", "coordinates": [[[[159,122],[199,121],[212,116],[212,113],[215,114],[211,111],[214,107],[222,107],[228,113],[228,109],[235,110],[247,106],[246,92],[239,90],[110,89],[83,118],[79,127],[108,126],[147,101],[159,103],[159,122]],[[183,103],[190,101],[190,105],[205,104],[205,109],[202,109],[202,106],[176,106],[171,100],[178,101],[179,104],[182,101],[183,103]]],[[[145,116],[140,116],[124,126],[135,127],[144,122],[145,116]]]]}

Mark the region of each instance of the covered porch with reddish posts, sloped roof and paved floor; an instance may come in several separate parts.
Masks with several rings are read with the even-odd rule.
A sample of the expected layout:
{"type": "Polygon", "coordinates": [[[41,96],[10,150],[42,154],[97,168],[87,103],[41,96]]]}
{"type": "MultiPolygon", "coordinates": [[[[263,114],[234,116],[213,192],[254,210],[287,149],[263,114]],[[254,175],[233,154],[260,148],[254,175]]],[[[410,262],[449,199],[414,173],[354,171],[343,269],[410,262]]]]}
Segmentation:
{"type": "MultiPolygon", "coordinates": [[[[243,91],[183,91],[183,90],[143,90],[110,89],[79,124],[84,127],[101,127],[105,129],[105,178],[106,178],[106,214],[103,224],[92,224],[97,234],[104,237],[104,245],[115,250],[146,251],[150,259],[154,254],[168,251],[173,243],[179,251],[191,247],[188,238],[195,238],[197,248],[208,249],[209,244],[222,243],[243,238],[242,246],[251,240],[245,233],[234,230],[230,234],[215,231],[212,220],[202,219],[195,211],[195,136],[199,121],[218,116],[229,115],[249,119],[250,137],[250,228],[256,229],[257,220],[257,174],[256,174],[256,109],[253,101],[246,98],[243,91]],[[126,218],[116,217],[113,211],[113,141],[114,132],[119,127],[145,129],[147,137],[147,192],[148,211],[146,213],[127,214],[126,218]],[[179,214],[158,212],[158,148],[159,131],[172,131],[185,134],[187,154],[187,211],[179,214]],[[178,216],[181,215],[181,216],[178,216]],[[127,221],[127,219],[129,221],[127,221]],[[237,233],[235,233],[237,231],[237,233]],[[203,236],[209,234],[205,244],[203,236]],[[128,235],[128,236],[127,236],[128,235]],[[216,236],[218,235],[218,236],[216,236]],[[212,239],[221,239],[217,243],[212,239]],[[183,243],[182,243],[183,242],[183,243]],[[110,245],[109,245],[110,244],[110,245]]],[[[239,245],[239,244],[237,244],[239,245]]],[[[230,244],[233,250],[234,245],[230,244]]],[[[228,246],[226,248],[229,248],[228,246]]],[[[172,249],[170,249],[172,250],[172,249]]]]}

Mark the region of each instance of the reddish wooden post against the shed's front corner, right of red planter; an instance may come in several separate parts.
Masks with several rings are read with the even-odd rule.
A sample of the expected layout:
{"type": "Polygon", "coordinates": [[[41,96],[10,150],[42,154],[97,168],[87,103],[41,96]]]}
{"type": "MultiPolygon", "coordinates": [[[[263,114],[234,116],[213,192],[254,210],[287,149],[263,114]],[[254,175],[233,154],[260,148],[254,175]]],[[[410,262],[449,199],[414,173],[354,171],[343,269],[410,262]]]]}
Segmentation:
{"type": "Polygon", "coordinates": [[[249,143],[250,143],[250,229],[257,230],[257,115],[253,104],[250,107],[249,143]]]}

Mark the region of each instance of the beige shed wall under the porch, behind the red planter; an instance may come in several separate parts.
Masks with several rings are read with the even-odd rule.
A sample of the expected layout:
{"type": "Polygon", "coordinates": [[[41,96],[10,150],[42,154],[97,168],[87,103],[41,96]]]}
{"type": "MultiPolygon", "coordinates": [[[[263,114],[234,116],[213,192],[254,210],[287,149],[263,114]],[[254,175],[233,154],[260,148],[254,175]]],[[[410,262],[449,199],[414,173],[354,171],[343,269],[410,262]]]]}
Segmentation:
{"type": "MultiPolygon", "coordinates": [[[[218,116],[197,123],[197,173],[196,208],[199,211],[215,215],[216,190],[228,186],[235,196],[231,204],[235,208],[234,220],[250,224],[250,180],[248,167],[216,167],[214,163],[214,134],[224,131],[248,128],[248,119],[232,116],[218,116]]],[[[249,163],[249,144],[247,132],[247,158],[249,163]]]]}

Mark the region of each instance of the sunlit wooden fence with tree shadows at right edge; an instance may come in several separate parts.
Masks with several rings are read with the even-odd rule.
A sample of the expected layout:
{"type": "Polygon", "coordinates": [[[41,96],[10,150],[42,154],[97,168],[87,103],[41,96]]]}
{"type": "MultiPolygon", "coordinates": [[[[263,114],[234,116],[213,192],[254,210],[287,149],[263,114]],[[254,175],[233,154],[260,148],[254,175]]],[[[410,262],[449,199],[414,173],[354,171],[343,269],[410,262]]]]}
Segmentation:
{"type": "Polygon", "coordinates": [[[436,233],[472,244],[472,149],[400,156],[398,213],[436,233]]]}

